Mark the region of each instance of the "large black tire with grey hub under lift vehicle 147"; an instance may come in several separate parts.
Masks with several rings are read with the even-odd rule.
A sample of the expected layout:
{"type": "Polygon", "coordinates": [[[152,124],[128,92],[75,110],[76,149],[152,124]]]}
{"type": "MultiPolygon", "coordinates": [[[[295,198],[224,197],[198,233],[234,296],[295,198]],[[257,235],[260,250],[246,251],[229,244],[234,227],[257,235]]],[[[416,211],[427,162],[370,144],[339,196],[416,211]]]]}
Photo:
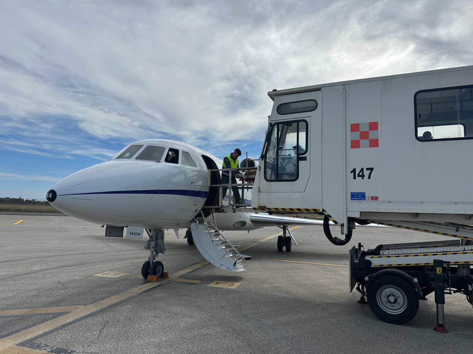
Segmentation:
{"type": "Polygon", "coordinates": [[[368,304],[381,320],[403,324],[419,311],[419,297],[404,278],[386,274],[374,279],[368,287],[368,304]]]}

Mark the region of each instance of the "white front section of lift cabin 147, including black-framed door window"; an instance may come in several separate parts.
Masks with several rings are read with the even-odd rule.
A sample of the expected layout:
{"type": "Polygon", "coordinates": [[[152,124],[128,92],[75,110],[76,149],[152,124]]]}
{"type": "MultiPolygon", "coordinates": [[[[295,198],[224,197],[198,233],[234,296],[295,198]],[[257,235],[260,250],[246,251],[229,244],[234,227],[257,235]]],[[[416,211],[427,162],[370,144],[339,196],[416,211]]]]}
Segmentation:
{"type": "Polygon", "coordinates": [[[320,205],[321,104],[320,91],[274,100],[257,177],[258,206],[318,208],[320,205]],[[301,112],[292,113],[297,110],[301,112]]]}

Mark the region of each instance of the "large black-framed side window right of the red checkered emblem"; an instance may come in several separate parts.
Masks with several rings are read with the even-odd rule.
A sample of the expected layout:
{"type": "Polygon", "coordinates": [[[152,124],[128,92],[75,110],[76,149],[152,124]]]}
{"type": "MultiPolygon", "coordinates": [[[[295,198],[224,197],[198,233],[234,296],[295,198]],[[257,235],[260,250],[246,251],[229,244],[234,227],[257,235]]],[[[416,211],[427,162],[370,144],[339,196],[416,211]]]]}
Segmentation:
{"type": "Polygon", "coordinates": [[[414,95],[419,141],[473,138],[473,86],[418,91],[414,95]]]}

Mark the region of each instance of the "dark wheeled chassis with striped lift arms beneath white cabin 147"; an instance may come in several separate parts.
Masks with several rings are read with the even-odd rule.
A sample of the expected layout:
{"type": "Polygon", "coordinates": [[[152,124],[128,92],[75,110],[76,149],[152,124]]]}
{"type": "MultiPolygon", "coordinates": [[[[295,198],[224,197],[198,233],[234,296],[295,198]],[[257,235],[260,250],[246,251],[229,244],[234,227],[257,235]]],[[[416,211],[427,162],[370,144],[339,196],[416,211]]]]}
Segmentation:
{"type": "Polygon", "coordinates": [[[349,251],[350,292],[356,287],[359,303],[369,304],[382,320],[402,324],[412,320],[419,300],[435,293],[438,332],[445,329],[446,294],[460,293],[473,305],[473,228],[450,222],[366,220],[384,226],[406,228],[457,238],[404,244],[380,244],[349,251]],[[368,298],[368,302],[365,300],[368,298]]]}

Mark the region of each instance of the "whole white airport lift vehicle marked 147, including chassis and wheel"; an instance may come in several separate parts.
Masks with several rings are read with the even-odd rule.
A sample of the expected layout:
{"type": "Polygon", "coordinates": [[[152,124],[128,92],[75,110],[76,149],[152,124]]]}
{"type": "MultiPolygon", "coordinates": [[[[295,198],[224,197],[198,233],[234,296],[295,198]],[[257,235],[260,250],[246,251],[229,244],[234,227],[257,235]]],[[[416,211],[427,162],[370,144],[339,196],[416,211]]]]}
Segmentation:
{"type": "Polygon", "coordinates": [[[350,291],[391,323],[435,292],[473,304],[473,66],[273,90],[252,207],[319,214],[333,244],[355,223],[455,237],[350,250],[350,291]],[[334,237],[329,221],[340,227],[334,237]]]}

